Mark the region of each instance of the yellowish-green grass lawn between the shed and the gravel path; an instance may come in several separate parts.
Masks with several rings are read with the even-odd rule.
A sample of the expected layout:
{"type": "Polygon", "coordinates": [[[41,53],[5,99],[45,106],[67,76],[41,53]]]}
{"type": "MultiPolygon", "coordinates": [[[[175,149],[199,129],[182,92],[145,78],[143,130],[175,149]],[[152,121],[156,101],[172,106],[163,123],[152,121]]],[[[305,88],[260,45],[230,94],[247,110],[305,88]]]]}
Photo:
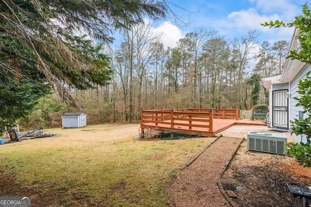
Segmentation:
{"type": "MultiPolygon", "coordinates": [[[[139,125],[49,129],[57,137],[0,145],[0,173],[32,206],[165,207],[176,171],[214,138],[139,141],[139,125]]],[[[3,181],[3,180],[2,180],[3,181]]]]}

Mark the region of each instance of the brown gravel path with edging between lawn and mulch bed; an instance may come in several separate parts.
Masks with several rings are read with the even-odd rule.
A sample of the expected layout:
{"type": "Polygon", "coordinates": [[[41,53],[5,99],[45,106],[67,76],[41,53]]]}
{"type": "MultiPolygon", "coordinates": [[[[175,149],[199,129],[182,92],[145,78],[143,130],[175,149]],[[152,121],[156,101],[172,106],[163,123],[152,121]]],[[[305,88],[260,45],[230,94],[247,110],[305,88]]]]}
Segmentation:
{"type": "Polygon", "coordinates": [[[169,189],[171,206],[229,207],[217,180],[241,141],[241,138],[220,137],[181,170],[169,189]]]}

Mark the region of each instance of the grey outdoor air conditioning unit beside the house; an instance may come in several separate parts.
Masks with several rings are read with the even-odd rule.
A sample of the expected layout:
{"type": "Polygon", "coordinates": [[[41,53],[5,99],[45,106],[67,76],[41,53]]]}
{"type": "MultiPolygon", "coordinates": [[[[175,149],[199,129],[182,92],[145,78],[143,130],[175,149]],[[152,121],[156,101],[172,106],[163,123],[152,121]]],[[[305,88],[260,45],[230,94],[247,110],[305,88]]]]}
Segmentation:
{"type": "Polygon", "coordinates": [[[286,154],[287,137],[285,134],[249,131],[247,133],[247,149],[274,154],[286,154]]]}

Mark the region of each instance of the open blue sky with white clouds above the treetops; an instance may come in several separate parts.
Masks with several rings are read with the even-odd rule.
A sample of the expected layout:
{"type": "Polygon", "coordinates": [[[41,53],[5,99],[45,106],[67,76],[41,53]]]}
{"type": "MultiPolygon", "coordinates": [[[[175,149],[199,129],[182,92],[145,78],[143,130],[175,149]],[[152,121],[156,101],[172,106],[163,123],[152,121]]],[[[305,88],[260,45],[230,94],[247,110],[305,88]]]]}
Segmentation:
{"type": "MultiPolygon", "coordinates": [[[[294,28],[263,27],[260,23],[283,20],[292,22],[295,16],[302,15],[306,0],[169,0],[178,5],[170,5],[174,13],[185,19],[190,18],[189,26],[176,26],[173,18],[153,23],[157,32],[163,32],[163,43],[166,47],[176,47],[176,42],[187,32],[200,28],[216,31],[225,39],[233,40],[247,35],[249,31],[260,33],[262,41],[271,43],[277,40],[291,41],[294,28]],[[187,11],[186,11],[187,10],[187,11]],[[188,12],[189,11],[189,12],[188,12]]],[[[308,2],[309,4],[309,2],[308,2]]],[[[311,5],[309,5],[311,6],[311,5]]]]}

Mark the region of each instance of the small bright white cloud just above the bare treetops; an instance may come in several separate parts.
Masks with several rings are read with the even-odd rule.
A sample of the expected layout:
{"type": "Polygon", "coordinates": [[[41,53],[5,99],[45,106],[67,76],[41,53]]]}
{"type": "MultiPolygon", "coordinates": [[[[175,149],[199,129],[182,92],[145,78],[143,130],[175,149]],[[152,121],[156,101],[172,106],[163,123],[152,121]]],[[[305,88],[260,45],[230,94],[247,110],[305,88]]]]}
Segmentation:
{"type": "Polygon", "coordinates": [[[183,38],[184,32],[182,32],[177,26],[170,22],[162,22],[158,27],[155,28],[157,33],[163,33],[163,44],[165,47],[174,48],[177,46],[176,42],[183,38]]]}

